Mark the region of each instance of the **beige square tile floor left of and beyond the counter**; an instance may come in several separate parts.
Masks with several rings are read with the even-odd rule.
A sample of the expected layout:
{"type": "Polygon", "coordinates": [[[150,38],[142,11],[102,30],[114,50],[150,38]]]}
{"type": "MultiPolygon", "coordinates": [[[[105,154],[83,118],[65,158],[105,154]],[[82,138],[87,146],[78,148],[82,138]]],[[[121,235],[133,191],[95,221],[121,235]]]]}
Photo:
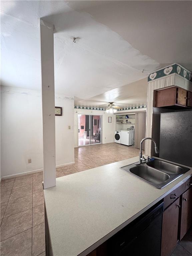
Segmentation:
{"type": "MultiPolygon", "coordinates": [[[[117,143],[75,148],[75,164],[57,168],[57,177],[139,155],[117,143]]],[[[1,181],[1,256],[45,256],[43,173],[1,181]]]]}

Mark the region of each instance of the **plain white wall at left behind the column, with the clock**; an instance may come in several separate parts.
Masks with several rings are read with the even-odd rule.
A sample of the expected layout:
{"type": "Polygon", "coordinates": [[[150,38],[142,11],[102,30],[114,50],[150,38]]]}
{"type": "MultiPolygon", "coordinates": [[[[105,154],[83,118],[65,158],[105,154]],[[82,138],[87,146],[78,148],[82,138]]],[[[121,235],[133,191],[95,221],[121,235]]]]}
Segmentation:
{"type": "MultiPolygon", "coordinates": [[[[74,100],[55,98],[56,166],[74,161],[74,100]],[[71,130],[68,126],[71,126],[71,130]]],[[[43,168],[41,92],[1,87],[1,176],[43,168]],[[28,159],[32,163],[28,163],[28,159]]]]}

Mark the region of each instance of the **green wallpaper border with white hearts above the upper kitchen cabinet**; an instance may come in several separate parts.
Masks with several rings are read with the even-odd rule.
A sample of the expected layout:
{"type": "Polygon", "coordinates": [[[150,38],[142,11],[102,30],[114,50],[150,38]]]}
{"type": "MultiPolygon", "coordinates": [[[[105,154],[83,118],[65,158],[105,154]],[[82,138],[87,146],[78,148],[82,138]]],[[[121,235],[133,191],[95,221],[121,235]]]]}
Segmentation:
{"type": "Polygon", "coordinates": [[[173,73],[177,73],[178,75],[186,78],[187,80],[192,81],[192,72],[188,71],[181,65],[174,63],[163,69],[157,70],[156,72],[148,74],[148,82],[173,73]]]}

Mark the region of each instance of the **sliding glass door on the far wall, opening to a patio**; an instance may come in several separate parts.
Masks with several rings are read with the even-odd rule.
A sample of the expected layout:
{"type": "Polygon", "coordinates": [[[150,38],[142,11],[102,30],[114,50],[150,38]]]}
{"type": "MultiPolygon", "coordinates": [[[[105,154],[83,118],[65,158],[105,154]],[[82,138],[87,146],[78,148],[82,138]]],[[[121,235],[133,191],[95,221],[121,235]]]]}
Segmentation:
{"type": "Polygon", "coordinates": [[[101,143],[101,116],[78,114],[78,145],[101,143]]]}

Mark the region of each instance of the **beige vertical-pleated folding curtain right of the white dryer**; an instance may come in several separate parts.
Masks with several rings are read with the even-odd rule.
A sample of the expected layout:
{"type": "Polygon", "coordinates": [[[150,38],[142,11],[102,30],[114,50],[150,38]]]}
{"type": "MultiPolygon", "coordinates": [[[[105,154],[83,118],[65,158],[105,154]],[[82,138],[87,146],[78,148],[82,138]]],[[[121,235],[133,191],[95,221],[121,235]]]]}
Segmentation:
{"type": "MultiPolygon", "coordinates": [[[[146,112],[135,113],[135,147],[140,148],[140,142],[145,138],[146,112]]],[[[145,149],[145,141],[142,150],[145,149]]]]}

